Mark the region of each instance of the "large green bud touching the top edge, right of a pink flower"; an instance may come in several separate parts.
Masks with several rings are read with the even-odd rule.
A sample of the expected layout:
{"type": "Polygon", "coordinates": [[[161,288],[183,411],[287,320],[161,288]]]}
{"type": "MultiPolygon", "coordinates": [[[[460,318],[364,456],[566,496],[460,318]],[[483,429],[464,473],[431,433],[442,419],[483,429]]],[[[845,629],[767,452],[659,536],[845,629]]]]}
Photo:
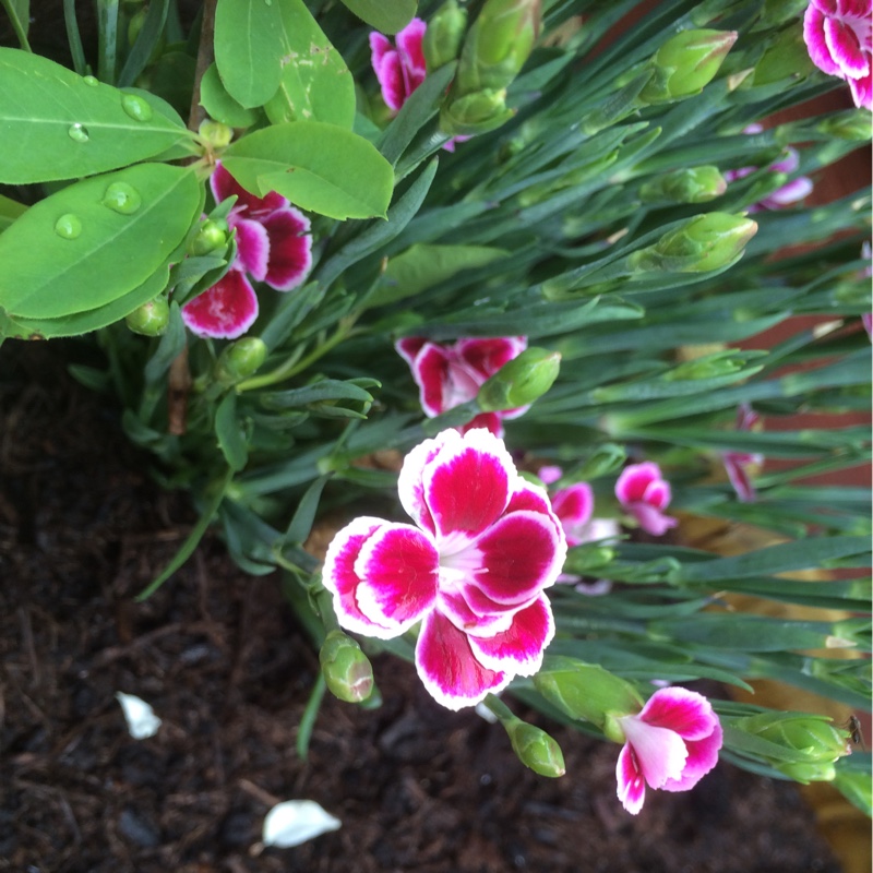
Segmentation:
{"type": "Polygon", "coordinates": [[[539,37],[540,0],[486,0],[470,27],[455,81],[455,93],[507,87],[539,37]]]}

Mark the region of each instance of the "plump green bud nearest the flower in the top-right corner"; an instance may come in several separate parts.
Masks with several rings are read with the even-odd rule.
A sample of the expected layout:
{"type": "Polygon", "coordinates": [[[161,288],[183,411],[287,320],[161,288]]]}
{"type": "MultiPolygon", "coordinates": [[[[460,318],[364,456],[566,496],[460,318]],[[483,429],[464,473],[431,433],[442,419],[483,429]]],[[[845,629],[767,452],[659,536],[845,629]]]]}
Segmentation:
{"type": "Polygon", "coordinates": [[[639,92],[639,99],[658,104],[699,94],[736,41],[733,31],[682,31],[671,37],[649,62],[655,74],[639,92]]]}

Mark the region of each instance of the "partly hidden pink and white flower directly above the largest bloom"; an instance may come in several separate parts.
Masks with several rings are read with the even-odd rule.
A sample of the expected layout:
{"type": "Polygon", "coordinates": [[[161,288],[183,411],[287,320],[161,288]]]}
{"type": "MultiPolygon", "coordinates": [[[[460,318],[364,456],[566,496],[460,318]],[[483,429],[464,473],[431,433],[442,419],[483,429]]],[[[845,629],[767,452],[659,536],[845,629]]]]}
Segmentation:
{"type": "MultiPolygon", "coordinates": [[[[421,336],[406,336],[395,348],[412,371],[424,415],[435,418],[473,400],[488,379],[527,348],[527,337],[466,338],[442,345],[421,336]]],[[[480,412],[461,431],[486,428],[495,436],[502,436],[503,419],[517,418],[528,408],[480,412]]]]}

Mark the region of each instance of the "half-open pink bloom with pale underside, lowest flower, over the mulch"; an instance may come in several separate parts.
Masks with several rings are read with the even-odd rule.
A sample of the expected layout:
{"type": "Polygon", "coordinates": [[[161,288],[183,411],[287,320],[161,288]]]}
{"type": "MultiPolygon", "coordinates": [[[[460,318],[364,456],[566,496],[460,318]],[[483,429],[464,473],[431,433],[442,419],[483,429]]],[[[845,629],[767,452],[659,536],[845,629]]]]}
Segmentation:
{"type": "Polygon", "coordinates": [[[626,742],[615,767],[619,800],[636,815],[646,785],[687,791],[715,767],[721,725],[706,697],[681,687],[656,691],[642,711],[620,718],[626,742]]]}

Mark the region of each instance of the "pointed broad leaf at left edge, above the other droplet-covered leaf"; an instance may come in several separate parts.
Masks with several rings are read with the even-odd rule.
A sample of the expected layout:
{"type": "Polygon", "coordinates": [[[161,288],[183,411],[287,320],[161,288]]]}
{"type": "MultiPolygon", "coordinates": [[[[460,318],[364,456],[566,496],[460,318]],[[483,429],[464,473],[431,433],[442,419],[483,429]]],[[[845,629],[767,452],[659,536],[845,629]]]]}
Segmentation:
{"type": "Polygon", "coordinates": [[[0,48],[0,182],[93,176],[154,157],[189,139],[162,100],[124,94],[38,55],[0,48]]]}

